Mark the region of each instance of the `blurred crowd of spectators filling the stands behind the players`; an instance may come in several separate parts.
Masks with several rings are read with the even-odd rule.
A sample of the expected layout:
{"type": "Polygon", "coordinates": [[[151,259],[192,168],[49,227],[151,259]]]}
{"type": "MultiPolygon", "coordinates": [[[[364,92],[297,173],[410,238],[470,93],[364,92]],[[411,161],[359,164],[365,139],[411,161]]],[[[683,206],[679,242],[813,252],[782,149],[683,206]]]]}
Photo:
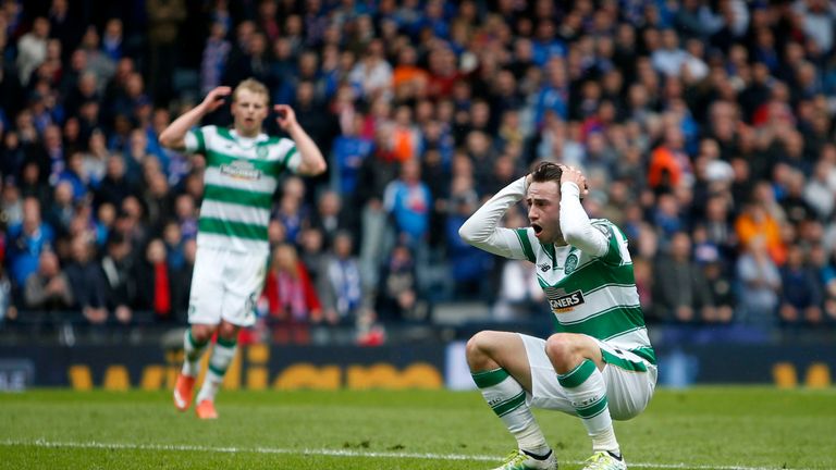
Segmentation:
{"type": "Polygon", "coordinates": [[[836,323],[833,1],[1,3],[5,321],[185,322],[205,163],[157,137],[251,76],[330,163],[275,198],[276,341],[460,300],[546,314],[532,265],[457,236],[539,160],[583,169],[648,321],[836,323]]]}

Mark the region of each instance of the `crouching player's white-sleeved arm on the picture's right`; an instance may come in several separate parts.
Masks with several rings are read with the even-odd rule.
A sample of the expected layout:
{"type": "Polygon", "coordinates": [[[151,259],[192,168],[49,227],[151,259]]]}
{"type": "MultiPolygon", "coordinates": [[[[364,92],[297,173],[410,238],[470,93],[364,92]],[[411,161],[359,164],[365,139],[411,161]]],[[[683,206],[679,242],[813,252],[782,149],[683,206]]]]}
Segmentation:
{"type": "Polygon", "coordinates": [[[593,256],[606,253],[607,237],[592,226],[580,203],[580,189],[575,183],[561,185],[561,233],[567,244],[583,252],[593,256]]]}

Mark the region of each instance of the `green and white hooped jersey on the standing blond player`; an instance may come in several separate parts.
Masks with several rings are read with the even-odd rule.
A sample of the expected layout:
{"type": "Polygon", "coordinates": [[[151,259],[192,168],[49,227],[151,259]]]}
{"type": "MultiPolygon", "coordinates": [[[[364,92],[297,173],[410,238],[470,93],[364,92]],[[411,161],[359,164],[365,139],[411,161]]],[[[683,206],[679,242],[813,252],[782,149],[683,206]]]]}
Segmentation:
{"type": "Polygon", "coordinates": [[[267,227],[279,176],[296,172],[300,157],[287,138],[244,138],[218,126],[190,129],[186,151],[206,156],[197,245],[269,251],[267,227]]]}

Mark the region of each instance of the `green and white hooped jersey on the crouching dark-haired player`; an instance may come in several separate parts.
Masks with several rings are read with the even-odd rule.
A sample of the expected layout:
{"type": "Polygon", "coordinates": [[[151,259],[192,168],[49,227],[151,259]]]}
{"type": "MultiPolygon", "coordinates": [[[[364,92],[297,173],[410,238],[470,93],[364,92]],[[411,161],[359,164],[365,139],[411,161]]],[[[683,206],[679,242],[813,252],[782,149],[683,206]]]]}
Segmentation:
{"type": "Polygon", "coordinates": [[[583,333],[616,347],[637,351],[655,363],[644,326],[639,294],[627,250],[627,237],[612,222],[594,219],[592,226],[608,239],[604,256],[573,246],[541,245],[531,227],[516,228],[515,258],[536,264],[537,280],[557,319],[556,330],[583,333]]]}

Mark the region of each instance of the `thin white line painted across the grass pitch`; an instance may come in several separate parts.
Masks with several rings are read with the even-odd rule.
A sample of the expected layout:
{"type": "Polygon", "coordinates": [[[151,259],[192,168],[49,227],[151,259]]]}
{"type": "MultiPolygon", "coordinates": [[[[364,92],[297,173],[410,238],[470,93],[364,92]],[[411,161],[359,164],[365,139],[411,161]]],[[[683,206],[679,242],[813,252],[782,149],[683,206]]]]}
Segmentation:
{"type": "MultiPolygon", "coordinates": [[[[212,452],[221,454],[250,453],[250,454],[295,454],[315,455],[325,457],[371,457],[371,458],[413,458],[425,460],[476,460],[499,461],[500,457],[466,454],[418,454],[396,452],[372,452],[352,449],[290,449],[275,447],[208,447],[188,444],[125,444],[101,442],[66,442],[66,441],[0,441],[0,446],[35,446],[35,447],[64,447],[64,448],[94,448],[94,449],[123,449],[123,450],[173,450],[173,452],[212,452]]],[[[568,461],[567,463],[580,465],[582,461],[568,461]]],[[[776,470],[779,467],[740,467],[715,465],[689,465],[689,463],[637,463],[629,462],[630,467],[648,469],[696,469],[696,470],[776,470]]],[[[794,470],[812,470],[797,468],[794,470]]]]}

